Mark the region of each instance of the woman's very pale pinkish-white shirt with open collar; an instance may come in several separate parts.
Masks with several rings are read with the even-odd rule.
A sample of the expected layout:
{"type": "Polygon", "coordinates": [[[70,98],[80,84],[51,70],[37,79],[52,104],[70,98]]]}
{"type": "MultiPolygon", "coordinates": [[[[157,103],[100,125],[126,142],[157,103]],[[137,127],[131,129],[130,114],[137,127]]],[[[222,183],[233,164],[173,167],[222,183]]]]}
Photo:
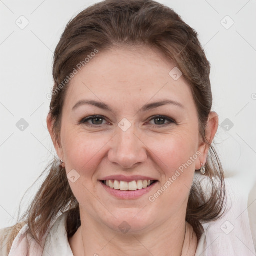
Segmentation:
{"type": "MultiPolygon", "coordinates": [[[[198,242],[195,256],[256,255],[256,186],[253,188],[252,184],[248,185],[247,190],[241,188],[239,178],[226,178],[225,182],[230,209],[223,218],[202,224],[204,233],[198,242]]],[[[28,226],[24,225],[13,241],[9,255],[3,254],[4,248],[0,250],[0,255],[73,256],[67,239],[65,220],[66,216],[61,212],[52,220],[44,236],[44,248],[29,237],[26,232],[28,226]]],[[[99,252],[98,255],[103,254],[99,252]]]]}

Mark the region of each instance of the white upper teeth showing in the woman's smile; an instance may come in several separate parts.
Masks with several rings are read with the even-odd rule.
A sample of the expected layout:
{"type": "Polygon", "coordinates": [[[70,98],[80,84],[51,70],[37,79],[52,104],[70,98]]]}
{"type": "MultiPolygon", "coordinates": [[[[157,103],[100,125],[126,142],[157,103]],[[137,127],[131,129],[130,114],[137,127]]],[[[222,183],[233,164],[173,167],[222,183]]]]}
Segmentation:
{"type": "Polygon", "coordinates": [[[104,184],[109,186],[110,188],[114,188],[116,190],[120,189],[120,190],[137,190],[137,189],[142,189],[142,188],[146,188],[147,186],[149,186],[151,183],[153,182],[153,180],[133,180],[130,182],[127,181],[119,181],[119,180],[104,180],[104,184]]]}

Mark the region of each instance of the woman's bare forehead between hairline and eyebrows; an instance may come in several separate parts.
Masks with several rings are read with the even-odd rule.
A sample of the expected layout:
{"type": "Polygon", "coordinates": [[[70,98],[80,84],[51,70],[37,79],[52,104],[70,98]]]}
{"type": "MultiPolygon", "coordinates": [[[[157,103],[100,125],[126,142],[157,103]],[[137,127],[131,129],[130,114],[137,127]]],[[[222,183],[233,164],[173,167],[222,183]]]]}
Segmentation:
{"type": "Polygon", "coordinates": [[[169,72],[175,64],[150,47],[112,48],[99,51],[70,80],[65,104],[82,99],[145,104],[169,97],[186,108],[194,107],[189,84],[169,72]]]}

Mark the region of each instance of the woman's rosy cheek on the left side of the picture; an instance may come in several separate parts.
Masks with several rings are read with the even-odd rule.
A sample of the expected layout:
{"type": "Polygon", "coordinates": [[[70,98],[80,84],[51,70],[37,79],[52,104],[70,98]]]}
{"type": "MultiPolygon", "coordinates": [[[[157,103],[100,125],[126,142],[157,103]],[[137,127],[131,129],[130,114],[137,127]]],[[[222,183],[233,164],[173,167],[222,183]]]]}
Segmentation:
{"type": "MultiPolygon", "coordinates": [[[[84,134],[84,132],[69,133],[63,140],[66,174],[74,169],[80,175],[74,183],[70,180],[68,182],[81,205],[91,205],[91,201],[95,200],[95,196],[97,197],[93,178],[96,177],[95,171],[102,160],[104,145],[108,140],[99,134],[84,134]]],[[[88,207],[87,210],[90,208],[88,207]]]]}

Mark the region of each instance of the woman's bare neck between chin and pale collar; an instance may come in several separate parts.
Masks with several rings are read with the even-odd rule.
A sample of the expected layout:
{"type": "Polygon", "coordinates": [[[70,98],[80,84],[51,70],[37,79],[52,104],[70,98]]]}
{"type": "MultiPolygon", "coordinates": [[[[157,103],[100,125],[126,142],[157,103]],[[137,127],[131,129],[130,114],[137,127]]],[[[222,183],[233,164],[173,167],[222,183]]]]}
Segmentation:
{"type": "Polygon", "coordinates": [[[81,226],[69,239],[74,256],[127,255],[127,256],[194,256],[196,234],[184,220],[171,218],[144,232],[120,234],[100,225],[82,210],[81,226]],[[84,220],[84,221],[83,221],[84,220]]]}

